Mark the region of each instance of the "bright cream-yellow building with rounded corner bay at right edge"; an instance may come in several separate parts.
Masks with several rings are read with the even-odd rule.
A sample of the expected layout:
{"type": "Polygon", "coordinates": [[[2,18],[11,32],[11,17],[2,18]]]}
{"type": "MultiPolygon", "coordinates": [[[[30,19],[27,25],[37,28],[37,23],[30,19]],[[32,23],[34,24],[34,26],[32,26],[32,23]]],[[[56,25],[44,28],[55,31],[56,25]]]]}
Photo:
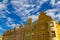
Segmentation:
{"type": "Polygon", "coordinates": [[[55,20],[51,20],[49,23],[49,40],[60,40],[60,24],[55,20]]]}

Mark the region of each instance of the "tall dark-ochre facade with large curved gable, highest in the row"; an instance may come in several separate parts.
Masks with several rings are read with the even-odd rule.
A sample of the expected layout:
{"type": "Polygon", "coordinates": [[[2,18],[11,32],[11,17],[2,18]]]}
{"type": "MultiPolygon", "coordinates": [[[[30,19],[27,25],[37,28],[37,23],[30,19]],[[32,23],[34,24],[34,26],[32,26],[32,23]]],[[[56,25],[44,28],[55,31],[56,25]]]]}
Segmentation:
{"type": "Polygon", "coordinates": [[[49,40],[48,22],[52,20],[45,12],[41,12],[34,26],[34,40],[49,40]]]}

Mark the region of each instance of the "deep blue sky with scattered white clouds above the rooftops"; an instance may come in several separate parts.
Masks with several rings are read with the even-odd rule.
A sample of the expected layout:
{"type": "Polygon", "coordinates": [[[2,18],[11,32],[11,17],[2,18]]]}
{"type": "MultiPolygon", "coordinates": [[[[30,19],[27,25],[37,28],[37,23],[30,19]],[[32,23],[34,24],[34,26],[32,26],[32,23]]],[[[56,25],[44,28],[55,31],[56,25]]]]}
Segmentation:
{"type": "Polygon", "coordinates": [[[0,0],[0,35],[26,25],[28,18],[35,22],[41,11],[60,22],[60,0],[0,0]]]}

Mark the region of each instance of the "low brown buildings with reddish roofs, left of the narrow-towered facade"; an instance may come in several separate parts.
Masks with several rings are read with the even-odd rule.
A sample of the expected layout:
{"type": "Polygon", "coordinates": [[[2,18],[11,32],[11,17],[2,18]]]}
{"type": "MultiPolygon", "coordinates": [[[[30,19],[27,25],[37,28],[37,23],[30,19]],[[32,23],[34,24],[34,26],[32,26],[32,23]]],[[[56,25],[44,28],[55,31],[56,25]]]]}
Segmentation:
{"type": "Polygon", "coordinates": [[[3,34],[3,40],[23,40],[23,28],[14,28],[13,30],[8,30],[3,34]]]}

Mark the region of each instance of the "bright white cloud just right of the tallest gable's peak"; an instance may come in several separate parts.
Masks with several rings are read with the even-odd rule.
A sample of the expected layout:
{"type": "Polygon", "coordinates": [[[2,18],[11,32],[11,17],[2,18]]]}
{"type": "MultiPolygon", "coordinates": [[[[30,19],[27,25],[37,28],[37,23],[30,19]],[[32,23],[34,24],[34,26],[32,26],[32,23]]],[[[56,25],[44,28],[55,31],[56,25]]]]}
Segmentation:
{"type": "Polygon", "coordinates": [[[49,9],[46,11],[47,15],[51,16],[53,19],[55,19],[57,22],[60,21],[60,11],[55,8],[55,9],[49,9]],[[58,12],[58,14],[56,13],[58,12]]]}

